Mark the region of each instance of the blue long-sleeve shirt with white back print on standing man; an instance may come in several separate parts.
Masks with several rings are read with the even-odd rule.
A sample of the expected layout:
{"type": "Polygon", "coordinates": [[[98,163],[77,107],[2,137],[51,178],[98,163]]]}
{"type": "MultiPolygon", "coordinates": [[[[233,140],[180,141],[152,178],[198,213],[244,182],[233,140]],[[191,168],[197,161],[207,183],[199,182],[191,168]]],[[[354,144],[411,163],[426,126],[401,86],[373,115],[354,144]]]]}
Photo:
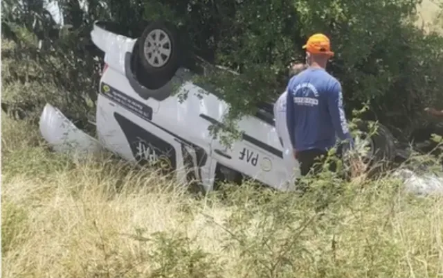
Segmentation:
{"type": "Polygon", "coordinates": [[[308,68],[289,80],[287,92],[287,127],[294,149],[328,150],[336,144],[336,135],[353,144],[336,78],[324,69],[308,68]]]}

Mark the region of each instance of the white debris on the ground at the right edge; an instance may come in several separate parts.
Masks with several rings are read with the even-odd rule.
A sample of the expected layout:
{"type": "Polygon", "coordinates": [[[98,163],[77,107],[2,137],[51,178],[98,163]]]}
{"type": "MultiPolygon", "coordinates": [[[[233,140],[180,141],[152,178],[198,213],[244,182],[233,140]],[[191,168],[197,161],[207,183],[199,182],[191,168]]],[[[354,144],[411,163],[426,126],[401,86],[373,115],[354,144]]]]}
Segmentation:
{"type": "Polygon", "coordinates": [[[419,196],[443,194],[443,176],[435,173],[426,173],[418,175],[413,171],[401,169],[394,173],[404,181],[406,191],[415,193],[419,196]]]}

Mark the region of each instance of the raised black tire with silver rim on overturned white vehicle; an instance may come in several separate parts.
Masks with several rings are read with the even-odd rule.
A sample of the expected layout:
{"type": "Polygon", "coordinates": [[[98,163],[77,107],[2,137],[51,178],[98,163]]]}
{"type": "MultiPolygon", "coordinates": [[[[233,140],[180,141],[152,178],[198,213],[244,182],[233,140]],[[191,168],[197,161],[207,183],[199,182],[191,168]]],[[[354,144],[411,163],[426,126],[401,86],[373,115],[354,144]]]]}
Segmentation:
{"type": "Polygon", "coordinates": [[[164,84],[171,80],[183,58],[177,28],[161,19],[153,21],[145,28],[138,42],[138,59],[147,78],[152,82],[161,80],[164,84]]]}

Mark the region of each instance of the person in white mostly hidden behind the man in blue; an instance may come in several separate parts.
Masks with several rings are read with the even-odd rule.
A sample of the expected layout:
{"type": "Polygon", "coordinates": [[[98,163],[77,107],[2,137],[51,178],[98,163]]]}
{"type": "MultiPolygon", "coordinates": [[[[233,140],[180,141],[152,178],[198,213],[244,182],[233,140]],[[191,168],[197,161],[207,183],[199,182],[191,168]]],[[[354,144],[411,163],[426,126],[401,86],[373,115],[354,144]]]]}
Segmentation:
{"type": "MultiPolygon", "coordinates": [[[[296,76],[296,74],[300,73],[300,71],[306,69],[305,64],[293,64],[289,68],[289,78],[296,76]]],[[[291,139],[289,139],[289,133],[287,130],[286,123],[286,101],[287,101],[287,91],[284,91],[283,94],[280,95],[278,100],[274,104],[274,117],[275,117],[275,131],[277,132],[278,139],[280,139],[280,144],[283,147],[283,159],[284,166],[286,166],[286,171],[288,175],[288,180],[293,184],[294,177],[298,175],[294,175],[294,171],[299,171],[299,166],[297,160],[293,157],[291,139]]]]}

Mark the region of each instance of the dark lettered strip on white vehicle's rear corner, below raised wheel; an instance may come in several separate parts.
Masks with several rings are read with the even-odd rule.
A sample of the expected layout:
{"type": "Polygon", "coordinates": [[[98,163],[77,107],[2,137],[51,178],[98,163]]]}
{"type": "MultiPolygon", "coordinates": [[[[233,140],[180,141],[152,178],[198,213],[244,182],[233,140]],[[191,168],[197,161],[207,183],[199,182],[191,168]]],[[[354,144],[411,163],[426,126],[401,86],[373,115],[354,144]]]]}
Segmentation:
{"type": "Polygon", "coordinates": [[[100,85],[100,92],[103,96],[109,98],[109,100],[118,103],[126,110],[140,116],[142,119],[147,121],[152,120],[152,107],[141,103],[141,101],[137,101],[135,98],[118,91],[118,89],[115,89],[104,82],[102,82],[100,85]]]}

